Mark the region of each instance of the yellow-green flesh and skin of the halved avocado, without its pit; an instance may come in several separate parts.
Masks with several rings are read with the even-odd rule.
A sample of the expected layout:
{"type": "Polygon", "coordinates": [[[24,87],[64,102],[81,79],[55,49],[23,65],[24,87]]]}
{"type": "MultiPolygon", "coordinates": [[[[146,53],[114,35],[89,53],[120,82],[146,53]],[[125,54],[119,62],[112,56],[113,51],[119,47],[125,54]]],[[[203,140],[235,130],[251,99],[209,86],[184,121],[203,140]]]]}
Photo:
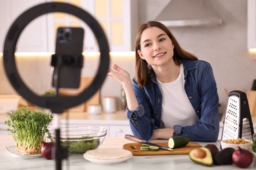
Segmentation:
{"type": "Polygon", "coordinates": [[[206,152],[206,156],[205,158],[196,158],[194,157],[194,150],[196,150],[196,148],[190,150],[188,156],[190,158],[190,160],[194,161],[195,163],[198,163],[200,165],[205,165],[207,167],[211,167],[213,165],[213,157],[211,156],[211,151],[208,148],[204,148],[204,147],[200,147],[203,150],[205,150],[206,152]]]}

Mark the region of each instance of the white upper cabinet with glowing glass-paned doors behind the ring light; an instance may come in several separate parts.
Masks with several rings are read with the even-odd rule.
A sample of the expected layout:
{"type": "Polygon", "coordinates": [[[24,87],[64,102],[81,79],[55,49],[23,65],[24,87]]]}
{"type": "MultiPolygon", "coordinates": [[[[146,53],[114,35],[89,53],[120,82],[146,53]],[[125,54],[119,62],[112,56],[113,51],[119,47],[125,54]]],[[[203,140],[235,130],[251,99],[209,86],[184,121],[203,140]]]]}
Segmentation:
{"type": "MultiPolygon", "coordinates": [[[[110,51],[131,51],[137,29],[137,0],[55,0],[76,5],[96,18],[104,30],[110,51]]],[[[91,28],[70,14],[54,12],[47,15],[49,51],[54,52],[56,28],[60,26],[85,29],[83,51],[98,51],[98,44],[91,28]]]]}

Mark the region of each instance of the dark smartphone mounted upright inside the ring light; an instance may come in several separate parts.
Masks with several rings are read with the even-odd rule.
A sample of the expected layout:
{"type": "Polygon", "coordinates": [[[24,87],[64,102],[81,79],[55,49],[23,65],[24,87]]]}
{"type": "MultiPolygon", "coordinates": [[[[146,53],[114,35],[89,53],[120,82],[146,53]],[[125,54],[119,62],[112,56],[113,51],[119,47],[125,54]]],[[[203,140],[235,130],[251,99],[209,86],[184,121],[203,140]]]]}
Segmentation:
{"type": "Polygon", "coordinates": [[[84,29],[81,27],[58,27],[53,87],[79,88],[83,67],[83,37],[84,29]]]}

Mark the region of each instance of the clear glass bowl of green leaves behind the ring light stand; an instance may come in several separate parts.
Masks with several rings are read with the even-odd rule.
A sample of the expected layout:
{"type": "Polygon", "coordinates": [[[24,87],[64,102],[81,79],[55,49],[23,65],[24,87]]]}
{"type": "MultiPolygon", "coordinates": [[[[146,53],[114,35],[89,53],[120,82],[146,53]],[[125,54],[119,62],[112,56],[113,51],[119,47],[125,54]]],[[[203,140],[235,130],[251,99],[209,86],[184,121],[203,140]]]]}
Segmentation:
{"type": "MultiPolygon", "coordinates": [[[[106,127],[79,126],[60,128],[60,145],[68,148],[69,154],[84,154],[98,148],[106,136],[106,127]]],[[[55,131],[51,131],[53,141],[55,131]]]]}

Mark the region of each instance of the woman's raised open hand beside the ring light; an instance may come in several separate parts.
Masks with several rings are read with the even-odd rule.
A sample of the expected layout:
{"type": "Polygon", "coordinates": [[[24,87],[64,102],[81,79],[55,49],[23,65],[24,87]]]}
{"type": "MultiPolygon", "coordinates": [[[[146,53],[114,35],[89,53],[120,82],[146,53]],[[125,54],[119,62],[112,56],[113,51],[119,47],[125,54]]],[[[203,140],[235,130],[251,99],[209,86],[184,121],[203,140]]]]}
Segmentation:
{"type": "Polygon", "coordinates": [[[108,76],[110,76],[110,78],[117,80],[122,85],[124,85],[128,81],[131,81],[130,74],[124,69],[121,69],[116,64],[112,66],[112,69],[108,69],[108,76]]]}

